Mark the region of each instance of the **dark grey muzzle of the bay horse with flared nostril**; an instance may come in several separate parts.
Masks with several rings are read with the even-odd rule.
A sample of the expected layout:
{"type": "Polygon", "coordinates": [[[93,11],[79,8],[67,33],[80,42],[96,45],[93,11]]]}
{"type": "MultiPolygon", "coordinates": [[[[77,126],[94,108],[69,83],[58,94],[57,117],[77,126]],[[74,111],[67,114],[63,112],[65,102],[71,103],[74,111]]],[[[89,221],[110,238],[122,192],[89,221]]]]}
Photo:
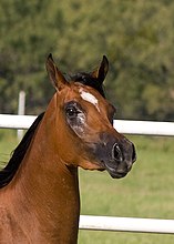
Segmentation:
{"type": "Polygon", "coordinates": [[[117,139],[112,134],[102,133],[100,139],[101,142],[95,144],[94,150],[98,162],[112,177],[124,177],[136,160],[134,144],[123,135],[117,139]]]}

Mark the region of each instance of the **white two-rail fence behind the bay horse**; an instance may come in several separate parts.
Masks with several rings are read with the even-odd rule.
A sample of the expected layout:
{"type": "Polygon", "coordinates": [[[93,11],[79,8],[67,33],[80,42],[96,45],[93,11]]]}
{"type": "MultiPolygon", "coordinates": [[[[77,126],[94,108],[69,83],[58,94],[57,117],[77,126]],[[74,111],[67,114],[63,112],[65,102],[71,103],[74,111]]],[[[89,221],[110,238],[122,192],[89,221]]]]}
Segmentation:
{"type": "MultiPolygon", "coordinates": [[[[0,128],[28,129],[35,116],[0,114],[0,128]]],[[[173,122],[115,120],[114,126],[121,133],[146,135],[174,135],[173,122]]],[[[80,216],[80,228],[93,231],[119,231],[141,233],[174,234],[174,220],[80,216]]]]}

